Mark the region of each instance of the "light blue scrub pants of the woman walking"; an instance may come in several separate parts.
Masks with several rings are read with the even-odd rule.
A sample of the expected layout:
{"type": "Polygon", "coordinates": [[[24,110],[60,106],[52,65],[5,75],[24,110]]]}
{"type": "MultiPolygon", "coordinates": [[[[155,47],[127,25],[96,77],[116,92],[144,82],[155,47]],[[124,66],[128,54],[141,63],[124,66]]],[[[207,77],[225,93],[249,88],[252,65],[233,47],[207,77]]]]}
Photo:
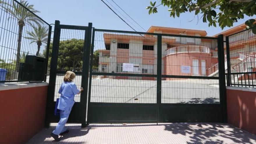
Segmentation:
{"type": "Polygon", "coordinates": [[[66,131],[65,124],[67,123],[70,111],[71,109],[69,111],[60,111],[60,121],[58,122],[55,130],[52,133],[59,135],[60,133],[66,131]]]}

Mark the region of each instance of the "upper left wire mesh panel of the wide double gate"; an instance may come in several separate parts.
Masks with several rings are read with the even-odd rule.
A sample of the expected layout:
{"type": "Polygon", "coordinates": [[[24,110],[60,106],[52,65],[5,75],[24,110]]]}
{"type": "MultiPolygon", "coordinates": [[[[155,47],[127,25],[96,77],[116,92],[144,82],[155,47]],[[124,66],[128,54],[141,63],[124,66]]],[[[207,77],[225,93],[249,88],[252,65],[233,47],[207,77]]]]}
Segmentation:
{"type": "Polygon", "coordinates": [[[95,31],[98,57],[93,68],[106,73],[156,74],[156,45],[156,35],[95,31]]]}

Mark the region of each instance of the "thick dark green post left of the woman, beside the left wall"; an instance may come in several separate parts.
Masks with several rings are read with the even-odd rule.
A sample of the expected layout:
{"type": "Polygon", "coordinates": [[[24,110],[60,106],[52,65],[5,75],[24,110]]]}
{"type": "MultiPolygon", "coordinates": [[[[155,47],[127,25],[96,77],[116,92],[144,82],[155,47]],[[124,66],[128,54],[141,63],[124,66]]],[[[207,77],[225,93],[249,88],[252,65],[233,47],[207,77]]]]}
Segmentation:
{"type": "Polygon", "coordinates": [[[54,107],[52,106],[54,102],[54,90],[55,90],[55,83],[56,83],[60,35],[61,35],[60,21],[56,20],[55,26],[54,26],[53,43],[52,43],[51,71],[50,71],[49,86],[48,86],[48,92],[47,92],[45,127],[49,127],[51,115],[53,115],[53,110],[54,110],[54,107]]]}

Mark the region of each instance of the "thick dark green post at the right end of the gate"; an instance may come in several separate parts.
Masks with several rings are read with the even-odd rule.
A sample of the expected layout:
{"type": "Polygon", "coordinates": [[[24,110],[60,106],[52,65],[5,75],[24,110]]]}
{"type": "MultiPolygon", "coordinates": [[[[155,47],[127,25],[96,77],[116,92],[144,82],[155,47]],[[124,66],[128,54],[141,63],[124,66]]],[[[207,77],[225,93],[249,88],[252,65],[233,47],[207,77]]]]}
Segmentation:
{"type": "Polygon", "coordinates": [[[218,65],[219,65],[219,92],[220,104],[223,110],[223,122],[227,122],[227,99],[225,84],[225,55],[223,35],[218,35],[218,65]]]}

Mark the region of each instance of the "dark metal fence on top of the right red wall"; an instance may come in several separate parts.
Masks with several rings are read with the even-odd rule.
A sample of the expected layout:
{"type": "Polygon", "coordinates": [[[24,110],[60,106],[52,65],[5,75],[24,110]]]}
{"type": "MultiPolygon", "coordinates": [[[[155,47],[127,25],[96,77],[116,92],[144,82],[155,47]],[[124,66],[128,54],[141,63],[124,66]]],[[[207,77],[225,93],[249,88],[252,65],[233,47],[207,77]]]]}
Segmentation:
{"type": "Polygon", "coordinates": [[[227,86],[256,86],[256,35],[252,29],[226,37],[227,86]]]}

